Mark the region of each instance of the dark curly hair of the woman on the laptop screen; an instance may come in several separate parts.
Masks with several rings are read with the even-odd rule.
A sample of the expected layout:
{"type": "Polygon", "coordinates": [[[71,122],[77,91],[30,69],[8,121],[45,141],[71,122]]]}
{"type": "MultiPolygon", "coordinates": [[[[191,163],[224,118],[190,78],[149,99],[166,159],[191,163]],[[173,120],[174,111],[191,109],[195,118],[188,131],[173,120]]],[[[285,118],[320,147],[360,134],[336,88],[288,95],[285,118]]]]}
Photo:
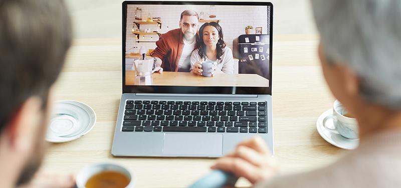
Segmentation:
{"type": "Polygon", "coordinates": [[[206,26],[213,26],[219,32],[219,38],[220,39],[216,44],[216,51],[217,51],[216,58],[220,60],[220,57],[223,55],[224,48],[226,47],[226,43],[223,40],[223,29],[216,22],[205,23],[204,25],[202,25],[199,28],[199,35],[196,36],[196,45],[197,45],[197,49],[199,50],[198,54],[199,54],[200,58],[207,57],[207,55],[206,55],[206,45],[205,45],[205,42],[204,42],[204,39],[203,39],[203,33],[204,33],[204,29],[205,29],[206,26]]]}

